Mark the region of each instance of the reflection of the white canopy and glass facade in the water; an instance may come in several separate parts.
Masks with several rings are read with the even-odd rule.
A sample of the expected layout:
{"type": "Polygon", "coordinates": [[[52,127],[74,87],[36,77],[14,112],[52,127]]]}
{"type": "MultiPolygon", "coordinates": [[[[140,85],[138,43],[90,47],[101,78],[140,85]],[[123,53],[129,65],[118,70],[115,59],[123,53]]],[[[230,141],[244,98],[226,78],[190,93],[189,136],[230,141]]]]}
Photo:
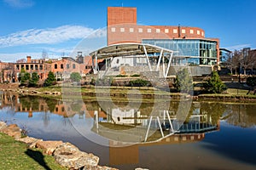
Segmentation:
{"type": "Polygon", "coordinates": [[[101,120],[95,111],[94,122],[96,133],[122,142],[160,141],[174,133],[204,133],[218,129],[218,124],[212,124],[211,116],[197,114],[197,111],[189,116],[188,122],[183,122],[172,111],[147,116],[134,109],[112,108],[107,111],[107,120],[101,120]],[[115,129],[115,125],[119,127],[115,129]]]}

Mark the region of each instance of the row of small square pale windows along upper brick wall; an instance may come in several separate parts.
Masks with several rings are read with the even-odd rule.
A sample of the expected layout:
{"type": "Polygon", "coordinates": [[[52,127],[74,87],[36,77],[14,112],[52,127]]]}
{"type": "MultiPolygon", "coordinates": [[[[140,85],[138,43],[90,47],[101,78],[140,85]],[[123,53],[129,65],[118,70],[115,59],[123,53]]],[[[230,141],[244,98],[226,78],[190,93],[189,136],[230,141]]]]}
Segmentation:
{"type": "MultiPolygon", "coordinates": [[[[112,31],[112,32],[115,32],[116,29],[117,29],[117,28],[112,27],[112,28],[111,28],[111,31],[112,31]]],[[[155,30],[156,33],[160,33],[160,29],[159,29],[159,28],[156,28],[156,29],[154,29],[154,30],[155,30]]],[[[166,29],[165,29],[165,33],[171,32],[170,30],[171,30],[171,29],[167,29],[167,28],[166,28],[166,29]]],[[[120,32],[125,32],[125,28],[119,28],[119,31],[120,31],[120,32]]],[[[137,31],[138,31],[139,33],[143,33],[143,28],[138,28],[137,31]]],[[[152,29],[151,29],[151,28],[147,28],[146,31],[147,31],[148,33],[151,33],[151,32],[152,32],[152,29]]],[[[134,28],[129,28],[129,32],[134,32],[134,28]]],[[[172,33],[173,33],[173,34],[177,34],[177,28],[172,29],[172,33]]],[[[190,33],[190,34],[197,34],[197,35],[204,36],[204,32],[203,32],[203,31],[200,31],[200,30],[196,30],[196,31],[195,31],[195,30],[193,30],[193,29],[190,29],[189,32],[187,32],[186,29],[181,29],[181,33],[183,33],[183,34],[190,33]]]]}

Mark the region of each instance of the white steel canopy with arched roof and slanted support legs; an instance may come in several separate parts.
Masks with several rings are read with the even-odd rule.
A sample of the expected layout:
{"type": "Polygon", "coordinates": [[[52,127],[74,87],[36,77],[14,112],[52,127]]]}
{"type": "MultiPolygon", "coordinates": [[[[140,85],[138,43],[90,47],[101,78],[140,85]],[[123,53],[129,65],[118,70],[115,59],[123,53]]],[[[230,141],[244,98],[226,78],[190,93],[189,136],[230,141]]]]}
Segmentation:
{"type": "Polygon", "coordinates": [[[119,43],[113,44],[104,48],[97,49],[90,53],[93,59],[93,70],[96,74],[98,71],[97,59],[108,59],[113,60],[115,57],[145,57],[148,61],[149,71],[153,71],[152,66],[149,62],[149,58],[158,58],[157,66],[154,71],[159,71],[160,62],[163,63],[163,77],[167,77],[173,51],[167,48],[161,48],[151,44],[145,43],[119,43]],[[165,68],[164,61],[168,59],[167,68],[165,68]]]}

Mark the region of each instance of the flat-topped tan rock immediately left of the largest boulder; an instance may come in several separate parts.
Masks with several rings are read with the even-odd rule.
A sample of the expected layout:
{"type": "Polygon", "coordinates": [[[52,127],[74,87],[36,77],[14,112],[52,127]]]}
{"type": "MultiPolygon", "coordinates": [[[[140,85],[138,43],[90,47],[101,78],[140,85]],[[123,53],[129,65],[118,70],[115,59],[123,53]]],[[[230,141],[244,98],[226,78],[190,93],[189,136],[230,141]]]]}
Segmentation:
{"type": "Polygon", "coordinates": [[[38,141],[36,147],[44,150],[47,155],[52,156],[55,149],[61,144],[63,144],[62,141],[38,141]]]}

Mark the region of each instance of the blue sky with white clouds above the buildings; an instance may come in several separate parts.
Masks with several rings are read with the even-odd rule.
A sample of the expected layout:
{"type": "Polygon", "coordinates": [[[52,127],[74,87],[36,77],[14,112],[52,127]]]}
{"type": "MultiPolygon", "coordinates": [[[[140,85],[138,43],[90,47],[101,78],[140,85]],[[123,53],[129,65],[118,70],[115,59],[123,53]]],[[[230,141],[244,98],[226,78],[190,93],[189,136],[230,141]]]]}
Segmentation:
{"type": "Polygon", "coordinates": [[[0,60],[71,56],[81,42],[89,53],[108,7],[136,7],[139,25],[200,27],[220,48],[256,48],[255,0],[0,0],[0,60]]]}

